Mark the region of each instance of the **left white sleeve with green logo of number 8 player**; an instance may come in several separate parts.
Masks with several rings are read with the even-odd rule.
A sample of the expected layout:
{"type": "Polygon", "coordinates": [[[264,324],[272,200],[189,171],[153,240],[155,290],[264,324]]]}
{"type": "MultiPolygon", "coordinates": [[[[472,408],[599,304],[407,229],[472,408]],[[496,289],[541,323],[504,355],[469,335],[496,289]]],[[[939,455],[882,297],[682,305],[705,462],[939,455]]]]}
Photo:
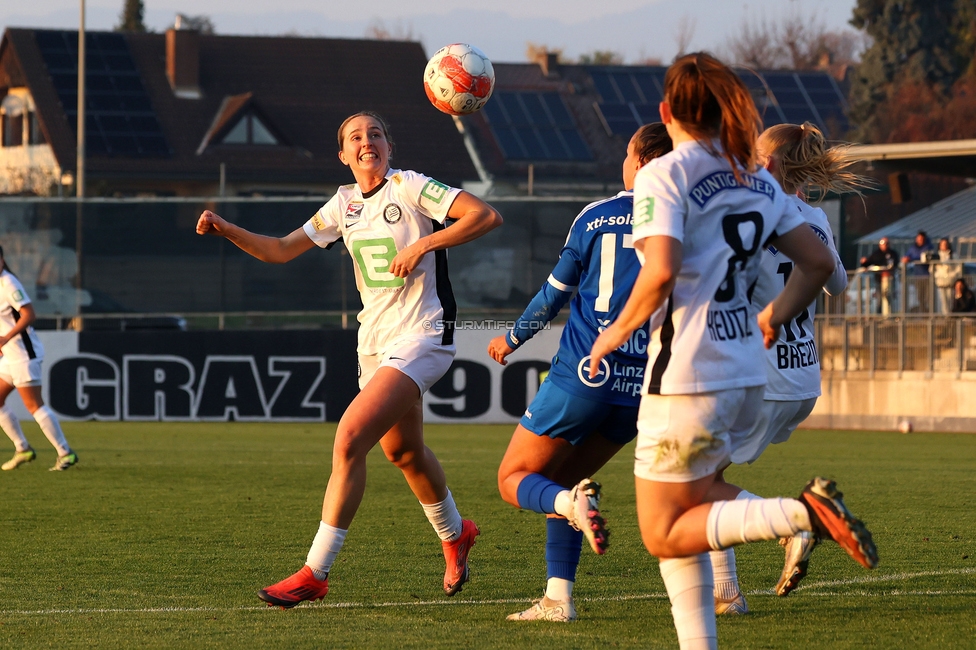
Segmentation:
{"type": "Polygon", "coordinates": [[[634,179],[634,241],[655,235],[684,241],[688,209],[672,168],[652,160],[634,179]]]}

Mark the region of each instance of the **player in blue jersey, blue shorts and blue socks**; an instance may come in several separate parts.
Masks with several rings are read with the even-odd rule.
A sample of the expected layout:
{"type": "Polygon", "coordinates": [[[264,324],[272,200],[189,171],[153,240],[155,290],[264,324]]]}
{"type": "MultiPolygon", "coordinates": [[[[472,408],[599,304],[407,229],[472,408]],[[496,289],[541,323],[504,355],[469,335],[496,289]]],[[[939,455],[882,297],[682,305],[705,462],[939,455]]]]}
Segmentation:
{"type": "Polygon", "coordinates": [[[647,124],[634,134],[623,163],[625,190],[591,203],[576,217],[548,281],[515,327],[488,347],[504,365],[576,291],[559,351],[498,470],[505,501],[549,515],[545,596],[510,620],[574,620],[573,585],[584,535],[594,551],[606,550],[600,486],[586,477],[637,435],[646,324],[603,360],[594,379],[589,377],[589,352],[599,332],[619,315],[640,270],[630,233],[634,176],[670,150],[663,124],[647,124]]]}

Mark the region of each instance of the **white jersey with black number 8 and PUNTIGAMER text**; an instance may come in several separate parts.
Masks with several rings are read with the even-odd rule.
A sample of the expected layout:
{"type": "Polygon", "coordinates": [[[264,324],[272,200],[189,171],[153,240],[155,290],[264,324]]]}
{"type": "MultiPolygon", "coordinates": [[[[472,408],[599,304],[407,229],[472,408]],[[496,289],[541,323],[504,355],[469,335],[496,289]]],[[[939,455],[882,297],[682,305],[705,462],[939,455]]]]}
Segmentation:
{"type": "MultiPolygon", "coordinates": [[[[718,142],[714,142],[720,150],[718,142]]],[[[682,395],[762,386],[762,332],[749,293],[759,253],[803,224],[765,169],[741,172],[697,141],[652,160],[634,183],[634,242],[682,244],[671,295],[651,317],[644,394],[682,395]]]]}

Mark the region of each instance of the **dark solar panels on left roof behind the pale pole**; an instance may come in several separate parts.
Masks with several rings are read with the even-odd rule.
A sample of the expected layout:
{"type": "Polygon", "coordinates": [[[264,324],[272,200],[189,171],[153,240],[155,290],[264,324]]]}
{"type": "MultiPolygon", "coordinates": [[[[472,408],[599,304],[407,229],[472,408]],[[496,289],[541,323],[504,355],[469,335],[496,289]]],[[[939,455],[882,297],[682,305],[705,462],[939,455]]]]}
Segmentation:
{"type": "MultiPolygon", "coordinates": [[[[76,32],[37,30],[37,46],[72,128],[77,124],[76,32]]],[[[85,144],[92,155],[170,153],[149,95],[122,34],[85,37],[85,144]]]]}

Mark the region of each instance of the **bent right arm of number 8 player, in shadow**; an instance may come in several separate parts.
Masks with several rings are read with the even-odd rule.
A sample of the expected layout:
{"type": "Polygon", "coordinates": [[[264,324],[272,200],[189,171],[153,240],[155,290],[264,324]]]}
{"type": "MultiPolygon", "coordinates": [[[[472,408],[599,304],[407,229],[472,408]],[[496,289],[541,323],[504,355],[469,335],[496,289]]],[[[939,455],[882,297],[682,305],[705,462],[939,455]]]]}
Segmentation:
{"type": "Polygon", "coordinates": [[[834,272],[834,255],[809,228],[794,228],[771,242],[793,260],[796,270],[776,298],[759,314],[766,349],[779,338],[779,328],[807,308],[834,272]]]}

